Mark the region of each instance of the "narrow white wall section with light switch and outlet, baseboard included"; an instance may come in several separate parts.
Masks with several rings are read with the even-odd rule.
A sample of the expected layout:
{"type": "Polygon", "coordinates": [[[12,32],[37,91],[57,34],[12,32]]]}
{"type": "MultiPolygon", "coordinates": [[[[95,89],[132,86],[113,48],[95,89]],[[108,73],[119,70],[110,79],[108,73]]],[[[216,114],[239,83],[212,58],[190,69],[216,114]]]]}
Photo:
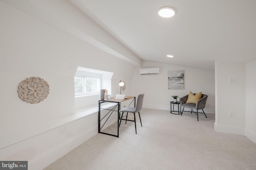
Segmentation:
{"type": "Polygon", "coordinates": [[[244,135],[246,114],[245,64],[215,62],[216,118],[214,129],[218,132],[244,135]],[[230,84],[229,79],[237,82],[230,84]],[[229,112],[234,118],[229,117],[229,112]]]}

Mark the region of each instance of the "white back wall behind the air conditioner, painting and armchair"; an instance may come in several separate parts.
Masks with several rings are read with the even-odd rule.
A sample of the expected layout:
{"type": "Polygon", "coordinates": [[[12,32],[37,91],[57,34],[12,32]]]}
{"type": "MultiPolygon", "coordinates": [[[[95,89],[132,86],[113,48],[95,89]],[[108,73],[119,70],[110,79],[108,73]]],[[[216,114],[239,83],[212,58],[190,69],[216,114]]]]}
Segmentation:
{"type": "MultiPolygon", "coordinates": [[[[144,61],[141,68],[160,68],[160,74],[140,75],[136,68],[132,77],[132,95],[145,93],[143,107],[170,110],[171,96],[185,96],[190,91],[208,95],[206,113],[215,113],[214,71],[144,61]],[[168,89],[168,71],[184,70],[184,90],[168,89]]],[[[178,99],[179,101],[179,99],[178,99]]],[[[184,109],[185,110],[185,109],[184,109]]]]}

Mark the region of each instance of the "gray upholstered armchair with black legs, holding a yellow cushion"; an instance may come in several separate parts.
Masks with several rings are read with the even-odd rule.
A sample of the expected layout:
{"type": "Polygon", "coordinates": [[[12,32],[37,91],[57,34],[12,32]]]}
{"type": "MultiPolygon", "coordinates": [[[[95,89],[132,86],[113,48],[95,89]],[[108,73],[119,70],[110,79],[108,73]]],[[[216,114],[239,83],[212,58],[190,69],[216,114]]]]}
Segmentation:
{"type": "MultiPolygon", "coordinates": [[[[190,108],[191,109],[191,113],[193,111],[193,109],[196,109],[196,113],[197,114],[197,121],[198,121],[198,110],[202,109],[203,113],[204,113],[204,107],[206,105],[206,100],[207,100],[208,96],[206,94],[202,94],[202,98],[200,100],[198,100],[196,102],[196,104],[192,104],[192,103],[186,103],[186,101],[188,100],[188,95],[183,96],[182,98],[180,98],[180,106],[183,107],[181,115],[183,113],[184,107],[186,108],[190,108]]],[[[206,114],[204,113],[205,117],[207,118],[206,114]]]]}

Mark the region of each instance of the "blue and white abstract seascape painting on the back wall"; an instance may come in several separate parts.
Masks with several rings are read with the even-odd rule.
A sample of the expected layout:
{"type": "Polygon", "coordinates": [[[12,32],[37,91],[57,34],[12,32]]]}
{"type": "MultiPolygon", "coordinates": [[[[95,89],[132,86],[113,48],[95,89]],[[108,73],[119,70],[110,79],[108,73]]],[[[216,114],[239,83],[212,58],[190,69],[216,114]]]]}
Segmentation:
{"type": "Polygon", "coordinates": [[[184,70],[168,71],[168,89],[184,89],[184,70]]]}

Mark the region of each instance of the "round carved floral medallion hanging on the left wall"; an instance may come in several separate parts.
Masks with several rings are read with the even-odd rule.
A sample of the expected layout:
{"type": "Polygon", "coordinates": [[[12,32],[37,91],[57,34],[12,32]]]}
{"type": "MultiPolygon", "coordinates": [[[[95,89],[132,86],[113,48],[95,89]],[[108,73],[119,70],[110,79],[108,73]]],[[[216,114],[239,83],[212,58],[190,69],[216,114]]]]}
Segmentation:
{"type": "Polygon", "coordinates": [[[31,104],[36,104],[46,99],[49,90],[48,83],[39,77],[26,78],[18,86],[20,99],[31,104]]]}

